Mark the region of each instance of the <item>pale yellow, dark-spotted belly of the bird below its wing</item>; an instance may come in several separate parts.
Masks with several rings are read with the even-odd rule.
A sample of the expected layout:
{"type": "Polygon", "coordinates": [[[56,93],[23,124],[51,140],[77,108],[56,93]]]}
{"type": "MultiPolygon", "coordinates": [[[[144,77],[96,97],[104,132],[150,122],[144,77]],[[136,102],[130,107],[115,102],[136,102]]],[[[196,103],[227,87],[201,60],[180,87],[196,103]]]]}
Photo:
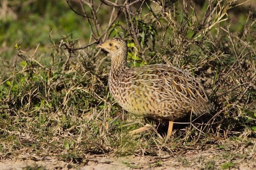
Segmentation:
{"type": "MultiPolygon", "coordinates": [[[[183,110],[184,103],[169,100],[161,100],[159,92],[153,89],[126,89],[120,91],[120,95],[113,95],[117,103],[126,111],[154,119],[169,119],[183,117],[187,111],[183,110]]],[[[119,93],[118,93],[119,94],[119,93]]],[[[187,104],[186,104],[187,105],[187,104]]]]}

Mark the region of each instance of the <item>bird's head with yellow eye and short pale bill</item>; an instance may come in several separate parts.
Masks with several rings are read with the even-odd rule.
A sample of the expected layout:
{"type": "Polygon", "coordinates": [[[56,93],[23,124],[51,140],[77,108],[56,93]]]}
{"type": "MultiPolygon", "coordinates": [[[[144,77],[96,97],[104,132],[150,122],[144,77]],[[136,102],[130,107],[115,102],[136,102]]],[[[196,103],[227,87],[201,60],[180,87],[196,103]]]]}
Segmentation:
{"type": "Polygon", "coordinates": [[[126,55],[127,53],[127,44],[122,38],[110,38],[96,47],[104,49],[112,56],[120,56],[124,55],[124,53],[126,55]]]}

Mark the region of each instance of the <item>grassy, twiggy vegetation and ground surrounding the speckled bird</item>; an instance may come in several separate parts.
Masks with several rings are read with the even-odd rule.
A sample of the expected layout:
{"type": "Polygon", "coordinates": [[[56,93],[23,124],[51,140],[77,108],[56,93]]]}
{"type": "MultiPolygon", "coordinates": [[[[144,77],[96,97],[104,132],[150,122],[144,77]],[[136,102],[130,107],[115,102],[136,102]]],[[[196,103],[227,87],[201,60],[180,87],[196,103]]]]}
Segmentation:
{"type": "Polygon", "coordinates": [[[254,0],[1,0],[1,162],[255,169],[255,9],[254,0]],[[129,67],[191,72],[215,111],[177,122],[170,141],[164,130],[128,136],[144,120],[115,103],[110,58],[95,49],[114,36],[128,43],[129,67]]]}

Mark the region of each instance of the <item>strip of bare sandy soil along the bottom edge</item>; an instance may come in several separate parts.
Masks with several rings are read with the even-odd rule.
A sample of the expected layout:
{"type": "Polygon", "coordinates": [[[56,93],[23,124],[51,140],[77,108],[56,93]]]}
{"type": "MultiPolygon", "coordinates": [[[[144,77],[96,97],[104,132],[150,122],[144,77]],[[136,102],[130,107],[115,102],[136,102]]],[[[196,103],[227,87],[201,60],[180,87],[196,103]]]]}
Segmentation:
{"type": "MultiPolygon", "coordinates": [[[[228,142],[229,145],[231,144],[228,142]]],[[[0,167],[9,169],[256,169],[255,146],[233,143],[230,148],[211,145],[198,147],[184,147],[180,151],[163,156],[124,156],[114,155],[86,155],[76,164],[58,157],[26,157],[0,161],[0,167]]]]}

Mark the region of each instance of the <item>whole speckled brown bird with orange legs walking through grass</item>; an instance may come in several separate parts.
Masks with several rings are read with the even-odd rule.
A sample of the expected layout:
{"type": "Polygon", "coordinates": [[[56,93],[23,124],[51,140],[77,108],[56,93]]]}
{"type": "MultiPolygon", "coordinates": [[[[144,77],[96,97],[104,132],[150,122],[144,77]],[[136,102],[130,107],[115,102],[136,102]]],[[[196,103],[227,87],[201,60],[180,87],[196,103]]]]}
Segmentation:
{"type": "MultiPolygon", "coordinates": [[[[169,121],[167,138],[175,120],[213,110],[207,91],[189,72],[166,64],[127,67],[128,47],[123,38],[110,38],[96,47],[111,55],[109,90],[115,101],[134,115],[169,121]]],[[[146,130],[147,126],[130,133],[146,130]]]]}

